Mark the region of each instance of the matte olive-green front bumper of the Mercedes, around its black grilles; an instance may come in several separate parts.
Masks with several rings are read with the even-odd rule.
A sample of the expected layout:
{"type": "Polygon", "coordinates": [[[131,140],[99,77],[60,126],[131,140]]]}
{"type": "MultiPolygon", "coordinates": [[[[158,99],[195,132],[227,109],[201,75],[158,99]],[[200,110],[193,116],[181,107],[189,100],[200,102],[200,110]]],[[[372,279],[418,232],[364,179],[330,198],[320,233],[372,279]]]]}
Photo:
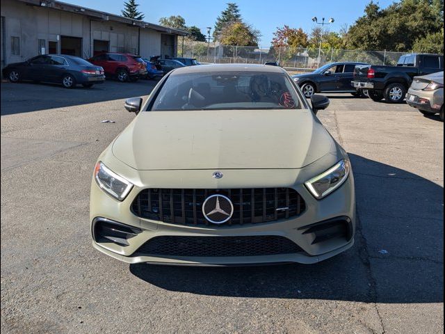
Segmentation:
{"type": "MultiPolygon", "coordinates": [[[[245,171],[230,172],[222,170],[223,173],[245,173],[245,171]]],[[[146,172],[150,174],[149,178],[153,177],[156,172],[146,172]]],[[[181,177],[184,180],[194,179],[195,175],[208,174],[204,171],[171,171],[169,178],[173,180],[181,177]],[[175,177],[177,175],[177,177],[175,177]]],[[[268,173],[267,171],[261,173],[268,173]]],[[[270,173],[276,173],[271,171],[270,173]]],[[[243,176],[243,175],[241,175],[243,176]]],[[[166,176],[167,177],[167,176],[166,176]]],[[[202,177],[204,178],[204,177],[202,177]]],[[[199,178],[198,178],[199,179],[199,178]]],[[[162,180],[160,181],[162,182],[162,180]]],[[[147,184],[147,182],[144,182],[147,184]]],[[[170,184],[165,184],[169,187],[170,184]]],[[[252,184],[246,184],[246,187],[252,184]]],[[[264,184],[264,186],[268,186],[264,184]]],[[[194,226],[194,225],[175,225],[171,223],[163,223],[160,221],[152,221],[145,218],[138,218],[134,215],[130,206],[134,198],[140,191],[147,186],[135,186],[123,202],[108,196],[104,191],[99,189],[95,181],[92,181],[91,186],[91,202],[90,202],[90,221],[94,221],[97,217],[104,217],[113,221],[118,221],[134,228],[140,229],[136,236],[128,240],[127,246],[115,244],[111,241],[96,242],[93,245],[97,250],[100,250],[106,255],[110,255],[115,259],[128,262],[150,262],[159,264],[190,264],[190,265],[248,265],[248,264],[270,264],[283,262],[298,262],[303,264],[312,264],[325,260],[329,257],[337,255],[344,250],[350,248],[354,244],[355,232],[355,191],[353,174],[350,174],[348,180],[336,191],[331,193],[323,200],[316,200],[307,191],[302,184],[277,184],[277,186],[288,186],[300,193],[306,202],[306,210],[300,216],[290,219],[282,219],[279,221],[269,223],[258,223],[248,225],[209,225],[209,226],[194,226]],[[303,226],[313,223],[319,223],[330,218],[337,218],[339,216],[346,216],[350,219],[350,238],[334,238],[326,241],[313,244],[314,234],[305,234],[301,230],[303,226]],[[243,236],[278,236],[286,237],[298,245],[302,251],[292,254],[279,255],[261,255],[261,256],[232,256],[232,257],[185,257],[185,256],[159,256],[150,254],[141,254],[138,249],[147,241],[154,237],[163,236],[178,236],[178,237],[243,237],[243,236]]],[[[158,184],[150,184],[150,187],[160,187],[158,184]]],[[[229,186],[228,186],[229,187],[229,186]]],[[[224,186],[225,188],[225,186],[224,186]]],[[[221,187],[223,189],[223,187],[221,187]]]]}

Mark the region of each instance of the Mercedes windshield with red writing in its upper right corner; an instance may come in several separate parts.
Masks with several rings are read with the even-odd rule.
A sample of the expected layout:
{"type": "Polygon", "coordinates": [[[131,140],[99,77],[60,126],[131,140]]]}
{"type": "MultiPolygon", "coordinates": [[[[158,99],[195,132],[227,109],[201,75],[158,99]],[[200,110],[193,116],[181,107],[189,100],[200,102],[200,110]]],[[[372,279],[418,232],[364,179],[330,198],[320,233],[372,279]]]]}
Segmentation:
{"type": "Polygon", "coordinates": [[[301,108],[284,73],[207,72],[173,74],[152,111],[301,108]]]}

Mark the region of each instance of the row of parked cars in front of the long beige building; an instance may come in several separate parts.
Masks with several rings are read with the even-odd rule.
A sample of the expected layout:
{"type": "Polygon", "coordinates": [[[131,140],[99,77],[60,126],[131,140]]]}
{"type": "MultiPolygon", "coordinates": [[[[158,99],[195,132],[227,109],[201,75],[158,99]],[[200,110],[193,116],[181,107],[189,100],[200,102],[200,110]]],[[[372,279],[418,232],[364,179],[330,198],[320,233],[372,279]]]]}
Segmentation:
{"type": "Polygon", "coordinates": [[[104,52],[85,60],[65,54],[43,54],[22,63],[11,63],[3,68],[2,74],[11,82],[48,82],[62,84],[65,88],[81,84],[90,88],[102,84],[106,77],[122,82],[156,79],[175,68],[186,67],[185,64],[200,65],[194,58],[159,58],[104,52]]]}

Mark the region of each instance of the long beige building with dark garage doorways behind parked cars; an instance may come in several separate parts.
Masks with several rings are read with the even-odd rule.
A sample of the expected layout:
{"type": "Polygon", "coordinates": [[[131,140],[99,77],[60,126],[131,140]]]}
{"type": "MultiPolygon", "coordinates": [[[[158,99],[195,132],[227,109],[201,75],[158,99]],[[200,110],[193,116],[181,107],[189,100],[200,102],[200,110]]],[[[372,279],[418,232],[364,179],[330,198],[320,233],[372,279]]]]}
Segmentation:
{"type": "Polygon", "coordinates": [[[1,0],[1,67],[37,54],[174,57],[188,33],[53,0],[1,0]]]}

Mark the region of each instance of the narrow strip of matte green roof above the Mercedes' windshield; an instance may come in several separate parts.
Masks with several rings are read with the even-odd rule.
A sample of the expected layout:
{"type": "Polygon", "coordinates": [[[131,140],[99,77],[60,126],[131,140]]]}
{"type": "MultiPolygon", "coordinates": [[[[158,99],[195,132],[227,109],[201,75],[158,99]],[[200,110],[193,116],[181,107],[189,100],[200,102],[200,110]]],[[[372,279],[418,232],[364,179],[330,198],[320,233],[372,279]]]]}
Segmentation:
{"type": "Polygon", "coordinates": [[[283,73],[281,67],[252,64],[209,64],[205,66],[186,66],[177,68],[171,75],[209,72],[268,72],[283,73]]]}

